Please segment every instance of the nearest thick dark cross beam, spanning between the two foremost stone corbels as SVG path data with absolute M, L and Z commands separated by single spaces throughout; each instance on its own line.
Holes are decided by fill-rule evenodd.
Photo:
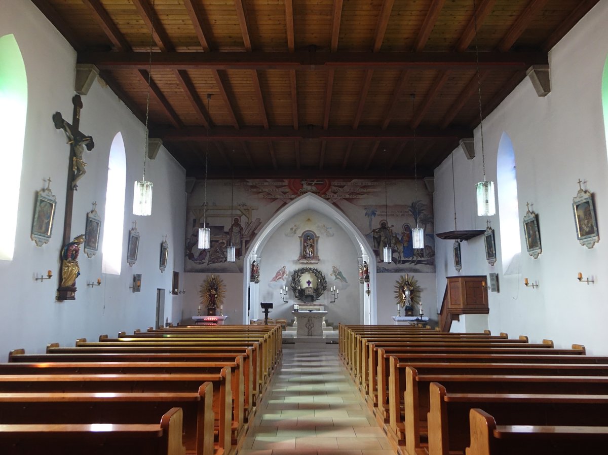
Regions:
M 100 69 L 148 68 L 148 52 L 79 52 L 78 63 Z M 479 66 L 493 71 L 547 64 L 546 52 L 480 52 Z M 163 52 L 155 69 L 477 69 L 474 52 Z

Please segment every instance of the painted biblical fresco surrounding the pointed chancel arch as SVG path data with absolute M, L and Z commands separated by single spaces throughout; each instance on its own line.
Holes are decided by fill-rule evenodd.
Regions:
M 242 273 L 243 258 L 256 235 L 279 210 L 306 193 L 314 193 L 340 210 L 367 239 L 376 255 L 378 273 L 435 273 L 435 240 L 432 197 L 424 185 L 411 180 L 381 179 L 260 179 L 211 181 L 207 185 L 206 215 L 204 187 L 196 184 L 188 196 L 188 232 L 185 245 L 187 272 Z M 386 204 L 385 204 L 386 201 Z M 211 229 L 211 248 L 198 249 L 198 228 L 203 217 Z M 424 228 L 425 248 L 412 248 L 412 228 Z M 332 237 L 331 226 L 317 223 L 317 234 Z M 302 226 L 285 226 L 286 237 L 302 235 Z M 228 245 L 236 247 L 237 260 L 226 262 Z M 390 245 L 390 263 L 382 260 L 382 248 Z M 338 269 L 339 271 L 339 269 Z M 339 279 L 338 279 L 339 281 Z

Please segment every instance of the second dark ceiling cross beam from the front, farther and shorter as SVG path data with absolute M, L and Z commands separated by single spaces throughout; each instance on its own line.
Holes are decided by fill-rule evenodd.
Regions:
M 301 141 L 308 139 L 324 139 L 326 141 L 334 140 L 352 140 L 352 139 L 412 139 L 414 131 L 411 128 L 387 128 L 382 130 L 378 127 L 361 127 L 352 130 L 350 127 L 334 127 L 323 130 L 319 127 L 306 127 L 294 130 L 291 127 L 271 127 L 268 130 L 264 128 L 247 127 L 240 130 L 233 128 L 206 128 L 187 127 L 181 130 L 173 128 L 154 128 L 151 130 L 151 137 L 159 137 L 163 141 L 179 142 L 179 141 L 205 141 L 207 134 L 213 140 L 230 140 L 238 139 L 241 141 L 289 141 L 299 139 Z M 463 137 L 472 137 L 470 128 L 446 128 L 438 130 L 438 128 L 418 128 L 416 130 L 416 138 L 423 139 L 461 139 Z

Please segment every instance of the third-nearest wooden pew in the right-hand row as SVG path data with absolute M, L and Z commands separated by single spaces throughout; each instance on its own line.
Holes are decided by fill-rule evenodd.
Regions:
M 404 420 L 390 401 L 390 433 L 408 453 L 421 450 L 421 416 L 430 408 L 430 383 L 437 382 L 454 393 L 478 394 L 604 394 L 608 387 L 605 376 L 564 375 L 450 375 L 419 374 L 406 368 Z M 390 398 L 389 398 L 390 400 Z M 395 406 L 396 407 L 396 406 Z M 405 440 L 404 440 L 405 439 Z

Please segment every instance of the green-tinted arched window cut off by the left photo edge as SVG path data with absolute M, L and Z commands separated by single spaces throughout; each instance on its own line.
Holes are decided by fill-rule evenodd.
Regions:
M 0 106 L 0 168 L 10 169 L 0 179 L 0 259 L 12 260 L 27 116 L 26 66 L 14 35 L 0 37 Z

